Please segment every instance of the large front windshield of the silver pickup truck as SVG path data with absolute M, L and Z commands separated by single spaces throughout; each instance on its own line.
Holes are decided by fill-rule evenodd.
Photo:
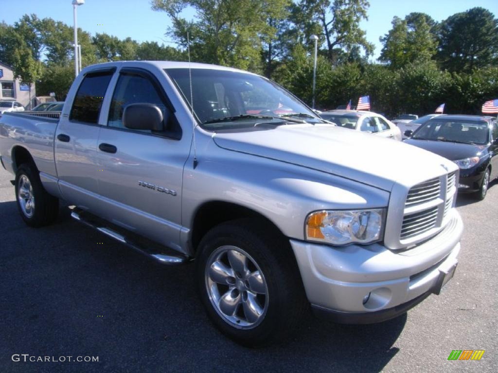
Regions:
M 165 71 L 190 104 L 189 69 Z M 197 68 L 190 74 L 194 113 L 207 130 L 254 127 L 258 122 L 322 122 L 297 98 L 260 76 Z

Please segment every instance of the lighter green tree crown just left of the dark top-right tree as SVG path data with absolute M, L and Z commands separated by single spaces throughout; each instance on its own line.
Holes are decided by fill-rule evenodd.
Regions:
M 435 21 L 424 13 L 410 13 L 404 19 L 394 17 L 392 28 L 380 41 L 384 44 L 380 61 L 399 69 L 413 62 L 425 63 L 436 54 Z

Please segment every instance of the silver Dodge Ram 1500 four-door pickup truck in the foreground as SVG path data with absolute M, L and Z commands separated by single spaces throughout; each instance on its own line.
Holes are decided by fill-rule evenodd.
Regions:
M 87 67 L 60 120 L 4 114 L 0 154 L 28 225 L 63 199 L 160 263 L 195 260 L 211 320 L 247 346 L 280 340 L 310 305 L 341 323 L 396 317 L 457 265 L 454 163 L 336 127 L 240 70 Z

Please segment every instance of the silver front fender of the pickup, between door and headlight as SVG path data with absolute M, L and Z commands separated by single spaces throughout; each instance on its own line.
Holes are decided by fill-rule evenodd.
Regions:
M 221 149 L 198 139 L 199 164 L 186 163 L 182 225 L 188 240 L 195 214 L 204 203 L 223 201 L 252 209 L 287 237 L 304 239 L 312 211 L 386 207 L 387 191 L 284 162 Z M 199 146 L 200 145 L 200 146 Z

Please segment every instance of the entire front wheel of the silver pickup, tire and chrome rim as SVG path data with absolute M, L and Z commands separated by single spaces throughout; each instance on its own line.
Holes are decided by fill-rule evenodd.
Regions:
M 248 347 L 282 341 L 307 299 L 286 240 L 253 220 L 223 223 L 199 245 L 197 287 L 213 323 Z

